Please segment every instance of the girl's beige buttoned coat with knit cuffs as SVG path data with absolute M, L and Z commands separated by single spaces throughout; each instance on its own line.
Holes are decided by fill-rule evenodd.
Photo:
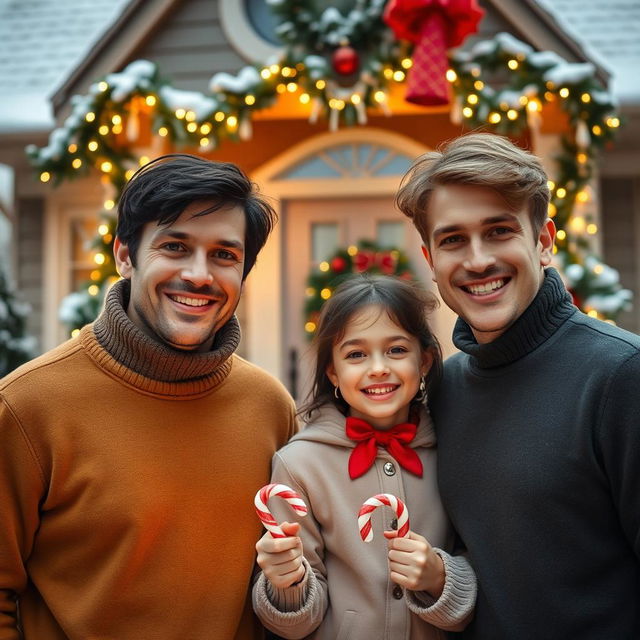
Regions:
M 463 556 L 450 556 L 454 533 L 436 486 L 435 434 L 426 413 L 411 443 L 424 466 L 422 478 L 403 470 L 382 448 L 373 467 L 351 480 L 347 464 L 355 443 L 344 433 L 344 416 L 325 406 L 317 420 L 273 459 L 272 482 L 299 492 L 309 513 L 299 518 L 307 575 L 298 586 L 274 589 L 260 574 L 253 589 L 254 608 L 263 624 L 284 638 L 325 640 L 427 640 L 463 628 L 473 614 L 475 574 Z M 390 581 L 387 542 L 394 513 L 373 513 L 373 541 L 362 541 L 357 524 L 362 503 L 391 493 L 407 505 L 412 531 L 423 535 L 442 556 L 444 593 L 435 601 Z M 282 500 L 269 506 L 276 519 L 295 520 Z

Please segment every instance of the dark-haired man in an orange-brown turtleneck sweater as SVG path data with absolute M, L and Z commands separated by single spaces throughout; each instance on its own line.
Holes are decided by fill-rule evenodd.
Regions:
M 0 382 L 2 640 L 261 637 L 253 497 L 296 420 L 234 311 L 274 223 L 232 164 L 125 187 L 104 311 Z

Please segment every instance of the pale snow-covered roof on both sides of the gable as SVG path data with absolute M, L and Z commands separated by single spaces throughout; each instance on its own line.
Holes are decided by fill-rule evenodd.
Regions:
M 50 98 L 130 2 L 0 0 L 0 132 L 50 130 Z M 640 103 L 640 0 L 535 2 L 587 57 L 612 72 L 614 95 Z

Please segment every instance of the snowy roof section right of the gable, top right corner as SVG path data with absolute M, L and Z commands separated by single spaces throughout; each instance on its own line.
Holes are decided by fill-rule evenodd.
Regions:
M 640 102 L 640 0 L 536 0 L 611 74 L 622 103 Z

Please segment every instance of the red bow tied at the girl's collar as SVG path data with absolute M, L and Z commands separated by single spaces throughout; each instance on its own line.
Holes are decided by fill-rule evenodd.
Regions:
M 374 429 L 368 422 L 349 416 L 346 422 L 347 437 L 358 444 L 349 456 L 349 476 L 359 478 L 373 465 L 378 447 L 384 447 L 410 473 L 422 478 L 422 462 L 408 445 L 418 427 L 411 422 L 397 424 L 388 431 Z

